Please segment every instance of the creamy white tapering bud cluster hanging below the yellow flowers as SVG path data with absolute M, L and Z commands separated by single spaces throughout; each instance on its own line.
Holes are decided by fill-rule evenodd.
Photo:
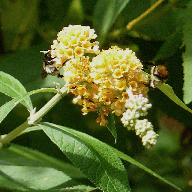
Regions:
M 142 139 L 145 147 L 150 148 L 156 144 L 158 135 L 153 130 L 153 125 L 147 119 L 139 119 L 147 115 L 151 108 L 148 99 L 142 94 L 134 95 L 131 88 L 127 89 L 128 99 L 125 103 L 126 111 L 123 113 L 121 122 L 129 130 L 134 130 Z

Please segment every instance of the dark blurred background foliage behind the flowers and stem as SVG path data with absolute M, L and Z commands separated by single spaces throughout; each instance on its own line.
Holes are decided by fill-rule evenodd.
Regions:
M 155 61 L 169 70 L 168 84 L 191 107 L 191 1 L 165 0 L 130 30 L 127 24 L 147 10 L 156 0 L 1 0 L 0 70 L 20 80 L 28 91 L 55 86 L 55 77 L 41 78 L 41 50 L 49 49 L 56 34 L 69 24 L 89 25 L 99 35 L 103 48 L 129 47 L 144 63 Z M 148 66 L 145 66 L 148 67 Z M 114 143 L 107 128 L 95 123 L 95 114 L 82 116 L 80 108 L 65 97 L 45 117 L 46 121 L 86 132 L 131 155 L 183 191 L 191 190 L 191 115 L 175 105 L 159 90 L 150 90 L 153 109 L 150 118 L 159 133 L 157 145 L 145 150 L 138 138 L 117 123 Z M 41 107 L 51 95 L 33 96 Z M 0 104 L 7 100 L 0 96 Z M 26 119 L 19 105 L 0 126 L 5 134 Z M 41 132 L 14 141 L 66 159 Z M 1 157 L 0 157 L 1 161 Z M 135 192 L 174 191 L 138 168 L 126 164 L 130 185 Z M 4 191 L 5 189 L 2 189 Z

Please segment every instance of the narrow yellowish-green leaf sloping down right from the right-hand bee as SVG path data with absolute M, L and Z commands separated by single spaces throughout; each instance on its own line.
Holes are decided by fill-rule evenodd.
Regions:
M 185 109 L 186 111 L 192 113 L 192 110 L 188 108 L 183 101 L 181 101 L 177 95 L 174 93 L 173 88 L 168 84 L 161 84 L 158 86 L 159 90 L 162 91 L 167 97 L 169 97 L 174 103 L 179 105 L 181 108 Z

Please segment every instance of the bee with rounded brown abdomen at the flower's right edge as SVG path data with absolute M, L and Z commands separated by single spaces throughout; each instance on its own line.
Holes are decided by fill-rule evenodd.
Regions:
M 150 87 L 155 88 L 158 84 L 164 83 L 168 79 L 168 70 L 165 65 L 151 67 Z

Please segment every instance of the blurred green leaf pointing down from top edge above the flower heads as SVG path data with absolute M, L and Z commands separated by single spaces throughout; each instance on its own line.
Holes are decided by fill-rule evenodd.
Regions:
M 98 0 L 94 10 L 94 28 L 100 35 L 100 43 L 105 39 L 116 18 L 129 0 Z

